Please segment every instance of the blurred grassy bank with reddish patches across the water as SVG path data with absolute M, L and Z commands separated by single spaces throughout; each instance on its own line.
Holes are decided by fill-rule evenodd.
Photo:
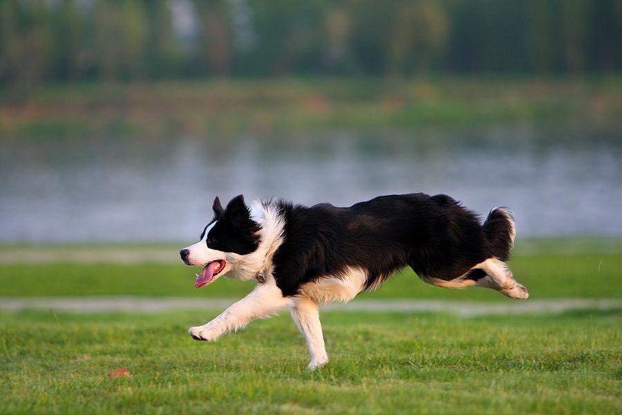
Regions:
M 214 80 L 2 91 L 0 136 L 618 123 L 619 77 Z

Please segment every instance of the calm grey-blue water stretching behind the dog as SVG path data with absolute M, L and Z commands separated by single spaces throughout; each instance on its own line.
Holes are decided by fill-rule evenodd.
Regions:
M 256 138 L 3 140 L 0 241 L 198 237 L 217 194 L 350 205 L 446 193 L 519 236 L 622 235 L 619 131 L 486 129 Z

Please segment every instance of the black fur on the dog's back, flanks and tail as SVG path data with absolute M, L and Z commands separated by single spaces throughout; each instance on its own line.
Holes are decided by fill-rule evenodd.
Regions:
M 478 216 L 444 194 L 380 196 L 350 208 L 322 203 L 310 208 L 279 203 L 284 240 L 273 257 L 283 295 L 348 266 L 367 270 L 365 288 L 411 266 L 417 275 L 449 281 L 491 257 L 507 259 L 511 223 L 493 210 Z M 469 274 L 471 279 L 483 277 Z

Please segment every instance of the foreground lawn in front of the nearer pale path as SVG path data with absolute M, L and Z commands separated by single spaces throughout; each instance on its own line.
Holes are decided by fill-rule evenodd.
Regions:
M 613 414 L 622 313 L 325 313 L 328 367 L 305 370 L 287 315 L 216 343 L 213 315 L 0 313 L 3 413 Z M 109 379 L 126 367 L 129 378 Z

